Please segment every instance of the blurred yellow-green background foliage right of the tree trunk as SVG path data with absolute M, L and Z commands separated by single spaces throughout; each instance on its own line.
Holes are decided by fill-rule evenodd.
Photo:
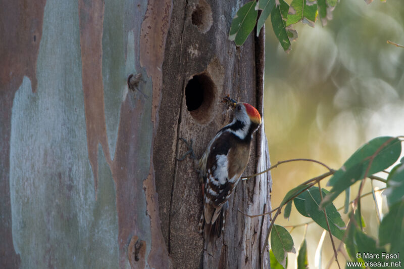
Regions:
M 291 1 L 286 1 L 290 4 Z M 361 145 L 378 136 L 404 135 L 404 49 L 387 40 L 404 44 L 404 2 L 341 0 L 333 19 L 315 28 L 298 23 L 298 39 L 286 54 L 266 22 L 265 128 L 271 163 L 292 158 L 320 160 L 334 169 Z M 282 164 L 271 171 L 272 207 L 279 205 L 288 190 L 326 170 L 308 162 Z M 385 175 L 381 174 L 385 177 Z M 325 180 L 327 181 L 328 178 Z M 325 182 L 322 184 L 325 187 Z M 385 187 L 377 182 L 374 187 Z M 371 191 L 370 181 L 364 192 Z M 358 193 L 358 184 L 350 198 Z M 343 206 L 343 194 L 335 200 Z M 387 211 L 385 197 L 383 210 Z M 342 218 L 348 217 L 339 211 Z M 365 232 L 377 238 L 379 220 L 372 195 L 362 199 Z M 297 249 L 309 222 L 293 207 L 285 226 Z M 323 229 L 308 226 L 309 267 L 314 268 L 316 247 Z M 339 241 L 336 240 L 336 245 Z M 327 235 L 323 245 L 323 268 L 332 259 Z M 295 254 L 288 254 L 288 268 L 294 268 Z M 341 267 L 345 258 L 339 254 Z M 292 262 L 293 261 L 293 262 Z M 333 262 L 331 268 L 337 267 Z

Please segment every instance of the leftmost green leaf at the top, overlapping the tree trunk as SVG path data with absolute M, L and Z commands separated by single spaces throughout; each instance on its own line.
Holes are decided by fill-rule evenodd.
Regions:
M 229 40 L 234 40 L 237 46 L 241 46 L 249 33 L 256 25 L 258 11 L 255 9 L 256 1 L 251 1 L 242 6 L 233 18 L 230 26 Z

